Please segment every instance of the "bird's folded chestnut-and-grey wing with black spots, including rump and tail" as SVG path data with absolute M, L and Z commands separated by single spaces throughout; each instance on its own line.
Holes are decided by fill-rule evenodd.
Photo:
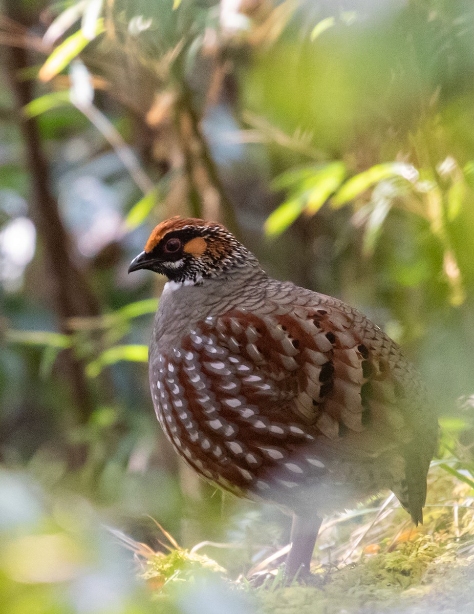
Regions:
M 293 424 L 323 454 L 380 459 L 385 486 L 421 521 L 437 426 L 418 372 L 394 341 L 329 297 L 260 315 L 237 309 L 212 325 L 238 361 L 242 397 L 268 424 Z

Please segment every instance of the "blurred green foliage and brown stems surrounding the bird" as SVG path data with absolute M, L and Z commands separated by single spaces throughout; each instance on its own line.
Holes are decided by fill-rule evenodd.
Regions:
M 155 419 L 164 280 L 126 270 L 175 214 L 402 344 L 472 480 L 471 1 L 3 0 L 0 63 L 2 612 L 159 610 L 107 526 L 238 543 L 208 551 L 233 577 L 285 541 Z M 200 590 L 176 611 L 214 612 Z

